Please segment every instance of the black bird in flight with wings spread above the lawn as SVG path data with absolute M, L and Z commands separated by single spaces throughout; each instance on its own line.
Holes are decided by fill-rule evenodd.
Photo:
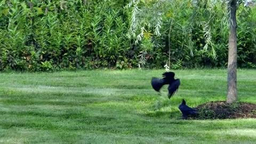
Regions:
M 163 78 L 152 77 L 151 85 L 157 92 L 162 88 L 163 85 L 169 84 L 168 86 L 168 98 L 170 99 L 175 92 L 178 91 L 180 86 L 180 79 L 174 79 L 175 74 L 173 72 L 163 73 Z

